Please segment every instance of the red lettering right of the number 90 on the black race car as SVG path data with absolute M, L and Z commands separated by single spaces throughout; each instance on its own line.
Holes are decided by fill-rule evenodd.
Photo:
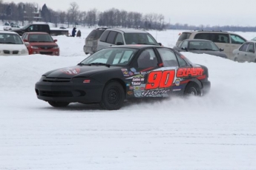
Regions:
M 203 69 L 201 67 L 195 67 L 195 68 L 181 68 L 177 70 L 176 77 L 182 78 L 182 77 L 188 77 L 188 76 L 201 76 L 203 75 Z

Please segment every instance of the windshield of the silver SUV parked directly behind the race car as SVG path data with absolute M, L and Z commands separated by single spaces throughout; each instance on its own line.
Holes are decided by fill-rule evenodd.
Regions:
M 150 44 L 159 45 L 149 33 L 125 33 L 126 44 Z

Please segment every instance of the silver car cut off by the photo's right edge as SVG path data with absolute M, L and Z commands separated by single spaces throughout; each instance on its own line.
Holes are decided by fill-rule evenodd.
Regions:
M 243 43 L 239 48 L 233 51 L 232 60 L 238 62 L 255 62 L 256 63 L 256 40 Z

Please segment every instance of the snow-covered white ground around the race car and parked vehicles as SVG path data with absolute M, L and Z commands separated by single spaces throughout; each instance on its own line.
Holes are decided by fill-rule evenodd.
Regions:
M 117 111 L 38 100 L 43 73 L 88 57 L 91 29 L 78 27 L 82 38 L 53 37 L 60 56 L 0 56 L 0 170 L 256 169 L 255 63 L 183 52 L 209 68 L 211 92 L 202 98 L 125 103 Z M 173 47 L 182 31 L 149 32 Z

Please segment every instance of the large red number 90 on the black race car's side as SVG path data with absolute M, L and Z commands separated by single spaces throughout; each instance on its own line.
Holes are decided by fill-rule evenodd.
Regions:
M 150 72 L 145 89 L 168 88 L 174 81 L 175 70 Z

